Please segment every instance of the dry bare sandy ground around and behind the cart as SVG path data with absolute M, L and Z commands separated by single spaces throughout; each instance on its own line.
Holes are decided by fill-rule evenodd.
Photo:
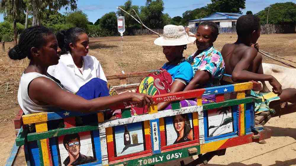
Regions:
M 156 46 L 153 41 L 157 36 L 124 36 L 123 43 L 120 37 L 103 37 L 90 39 L 89 54 L 95 56 L 101 63 L 106 75 L 120 74 L 134 71 L 147 71 L 160 68 L 165 62 L 162 47 Z M 236 34 L 220 34 L 214 46 L 221 50 L 226 43 L 233 43 Z M 260 49 L 289 60 L 296 61 L 296 34 L 261 35 Z M 2 43 L 1 43 L 2 44 Z M 6 49 L 13 47 L 6 43 Z M 122 51 L 121 51 L 122 50 Z M 196 50 L 194 44 L 188 44 L 184 56 Z M 17 114 L 17 89 L 21 73 L 28 65 L 28 59 L 21 61 L 10 60 L 7 53 L 0 52 L 0 165 L 4 165 L 15 139 L 15 130 L 12 119 Z M 265 63 L 281 63 L 264 57 Z M 118 80 L 112 80 L 113 85 Z M 139 79 L 128 80 L 128 83 L 139 82 Z M 296 165 L 296 113 L 272 118 L 267 124 L 273 135 L 267 143 L 250 143 L 229 148 L 226 155 L 214 157 L 209 166 L 282 166 Z M 21 154 L 22 155 L 22 154 Z M 192 161 L 185 159 L 185 163 Z M 24 160 L 17 161 L 17 165 L 24 165 Z M 179 162 L 169 162 L 162 165 L 180 165 Z

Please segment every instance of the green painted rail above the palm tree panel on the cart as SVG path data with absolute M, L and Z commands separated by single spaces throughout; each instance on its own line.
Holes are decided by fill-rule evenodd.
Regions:
M 256 102 L 257 99 L 258 98 L 254 98 L 254 97 L 246 97 L 246 98 L 242 98 L 242 99 L 232 99 L 232 100 L 226 100 L 226 101 L 223 101 L 220 103 L 203 104 L 202 108 L 203 108 L 203 110 L 209 110 L 209 109 L 221 108 L 221 107 L 227 107 L 227 106 L 236 106 L 239 104 Z

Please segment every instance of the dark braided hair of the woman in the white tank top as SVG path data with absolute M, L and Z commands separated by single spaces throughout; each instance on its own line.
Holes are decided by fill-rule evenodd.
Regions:
M 44 26 L 33 26 L 25 29 L 20 34 L 19 43 L 9 50 L 8 56 L 13 60 L 21 60 L 26 57 L 31 59 L 31 48 L 41 48 L 46 44 L 44 36 L 52 34 L 52 31 Z

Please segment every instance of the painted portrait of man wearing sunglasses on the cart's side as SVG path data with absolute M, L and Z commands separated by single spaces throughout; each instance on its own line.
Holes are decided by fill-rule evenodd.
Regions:
M 69 156 L 63 162 L 65 166 L 81 165 L 95 160 L 94 157 L 80 153 L 80 137 L 77 133 L 65 135 L 63 144 L 69 153 Z

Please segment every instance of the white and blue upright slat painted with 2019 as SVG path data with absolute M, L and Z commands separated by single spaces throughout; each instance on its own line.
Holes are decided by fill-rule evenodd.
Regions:
M 152 154 L 160 154 L 160 129 L 159 119 L 150 120 L 151 127 L 151 142 L 152 142 Z

